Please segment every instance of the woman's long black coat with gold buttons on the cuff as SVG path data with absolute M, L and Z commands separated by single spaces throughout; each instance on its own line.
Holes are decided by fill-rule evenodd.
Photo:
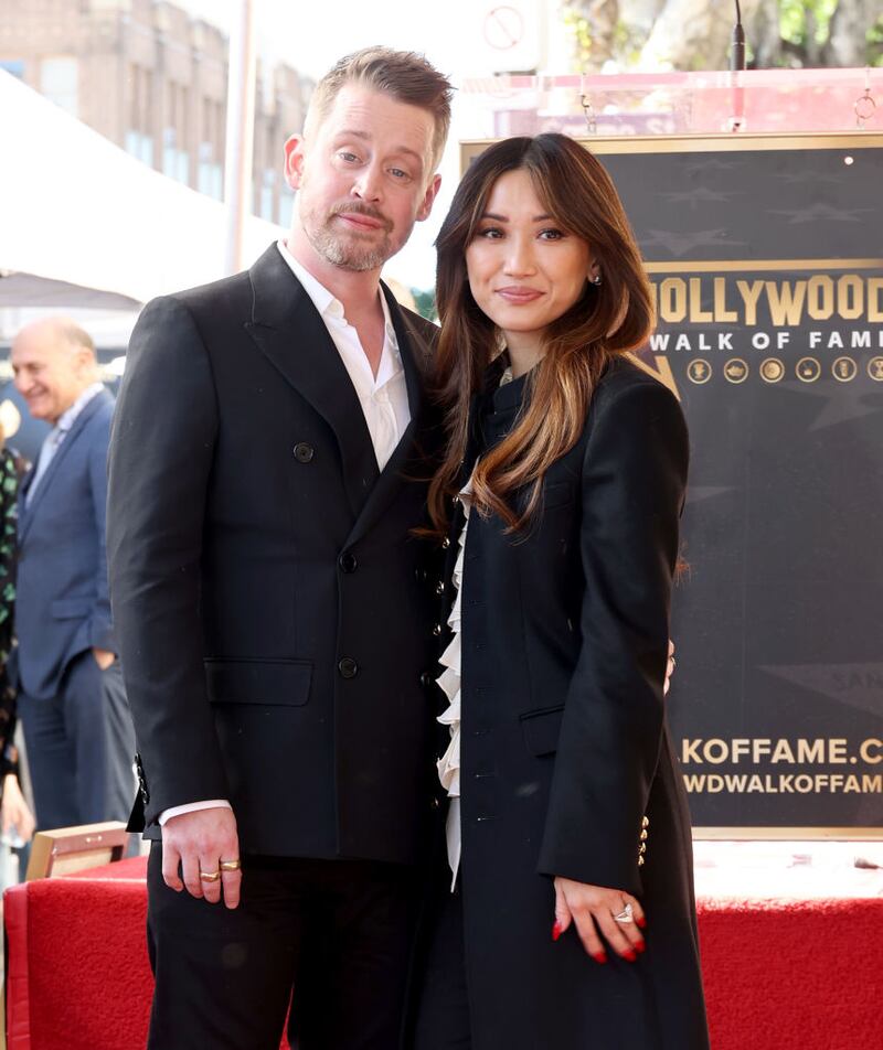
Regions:
M 479 401 L 479 447 L 511 429 L 523 388 Z M 677 399 L 620 358 L 547 472 L 526 536 L 471 515 L 461 892 L 472 1050 L 708 1048 L 690 817 L 662 694 L 688 456 Z M 454 535 L 461 512 L 453 524 Z M 634 893 L 646 954 L 598 965 L 573 928 L 553 943 L 556 875 Z

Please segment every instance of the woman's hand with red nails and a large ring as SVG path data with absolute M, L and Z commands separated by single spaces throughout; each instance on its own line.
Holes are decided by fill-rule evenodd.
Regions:
M 629 904 L 634 921 L 617 922 L 614 915 L 625 913 Z M 645 950 L 643 936 L 640 932 L 647 925 L 643 910 L 637 898 L 623 890 L 556 878 L 555 925 L 552 928 L 552 936 L 555 941 L 571 925 L 571 922 L 576 926 L 583 947 L 596 963 L 607 962 L 607 953 L 598 932 L 604 935 L 615 952 L 630 963 L 634 963 L 638 954 Z

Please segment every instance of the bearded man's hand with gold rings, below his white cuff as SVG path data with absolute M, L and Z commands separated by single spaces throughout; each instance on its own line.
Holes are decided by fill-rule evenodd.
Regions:
M 180 893 L 187 887 L 191 896 L 203 897 L 210 904 L 216 904 L 223 891 L 226 907 L 235 908 L 242 871 L 225 870 L 221 865 L 238 859 L 236 818 L 226 806 L 182 813 L 162 825 L 162 878 L 169 889 Z M 205 881 L 200 877 L 216 871 L 221 872 L 220 879 Z

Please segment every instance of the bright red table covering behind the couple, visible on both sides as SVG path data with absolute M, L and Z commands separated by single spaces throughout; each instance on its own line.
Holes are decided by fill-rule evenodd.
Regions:
M 145 1046 L 143 876 L 136 858 L 7 891 L 9 1050 Z M 713 1050 L 883 1047 L 882 899 L 704 899 L 699 922 Z

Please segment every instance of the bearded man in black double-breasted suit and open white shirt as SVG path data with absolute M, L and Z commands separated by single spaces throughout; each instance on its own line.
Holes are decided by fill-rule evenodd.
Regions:
M 156 300 L 110 450 L 111 598 L 153 839 L 149 1046 L 393 1050 L 430 815 L 422 372 L 380 283 L 450 85 L 371 49 L 286 146 L 287 242 Z

